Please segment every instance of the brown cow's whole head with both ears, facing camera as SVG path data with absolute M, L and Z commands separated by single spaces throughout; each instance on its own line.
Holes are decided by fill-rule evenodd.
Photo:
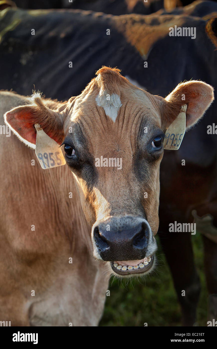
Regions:
M 152 270 L 157 249 L 164 132 L 181 105 L 188 129 L 212 100 L 203 82 L 180 84 L 164 99 L 103 67 L 81 95 L 56 102 L 55 110 L 36 96 L 5 120 L 26 144 L 36 143 L 36 123 L 62 144 L 92 227 L 94 257 L 115 275 L 142 275 Z

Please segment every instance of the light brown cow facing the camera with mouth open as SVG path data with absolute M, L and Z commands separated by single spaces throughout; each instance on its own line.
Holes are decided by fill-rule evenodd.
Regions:
M 214 99 L 201 81 L 163 98 L 102 67 L 66 102 L 0 92 L 1 114 L 18 137 L 0 138 L 1 319 L 96 326 L 108 275 L 153 270 L 164 132 L 182 109 L 182 94 L 188 130 Z M 67 165 L 58 164 L 52 142 Z M 30 148 L 42 153 L 42 168 Z

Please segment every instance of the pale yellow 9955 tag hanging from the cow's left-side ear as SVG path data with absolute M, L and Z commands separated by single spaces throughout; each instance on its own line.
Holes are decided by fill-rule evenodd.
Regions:
M 43 170 L 65 165 L 65 158 L 58 143 L 50 138 L 40 127 L 36 128 L 36 156 Z

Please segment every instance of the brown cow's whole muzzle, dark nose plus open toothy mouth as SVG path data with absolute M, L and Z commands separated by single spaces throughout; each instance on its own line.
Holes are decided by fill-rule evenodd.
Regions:
M 111 217 L 92 228 L 94 257 L 109 261 L 115 274 L 144 274 L 157 250 L 149 223 L 140 217 Z

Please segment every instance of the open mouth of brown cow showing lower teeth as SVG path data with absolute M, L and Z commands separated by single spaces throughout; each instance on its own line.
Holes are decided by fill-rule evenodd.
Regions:
M 110 262 L 112 270 L 119 275 L 145 274 L 154 263 L 154 255 L 140 260 Z

